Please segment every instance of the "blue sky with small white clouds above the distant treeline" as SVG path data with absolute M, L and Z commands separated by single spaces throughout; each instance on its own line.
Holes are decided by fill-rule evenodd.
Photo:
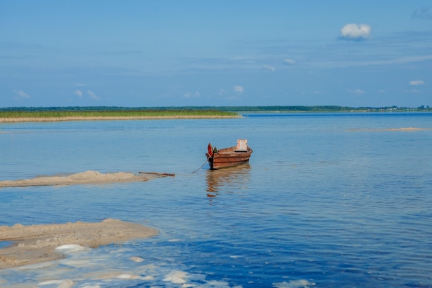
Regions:
M 0 0 L 0 107 L 432 106 L 432 2 Z

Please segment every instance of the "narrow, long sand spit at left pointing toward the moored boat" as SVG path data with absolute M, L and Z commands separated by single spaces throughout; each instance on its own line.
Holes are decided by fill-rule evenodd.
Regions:
M 166 177 L 167 173 L 146 173 L 139 174 L 118 172 L 118 173 L 99 173 L 97 171 L 86 171 L 68 176 L 47 176 L 36 177 L 26 180 L 6 180 L 0 181 L 1 187 L 25 187 L 25 186 L 55 186 L 55 185 L 74 185 L 74 184 L 108 184 L 118 182 L 140 182 L 153 180 L 159 177 Z

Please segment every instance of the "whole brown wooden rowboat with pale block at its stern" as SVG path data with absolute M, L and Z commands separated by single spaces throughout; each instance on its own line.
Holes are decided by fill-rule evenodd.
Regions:
M 213 148 L 208 143 L 207 150 L 206 156 L 211 170 L 248 163 L 253 152 L 246 139 L 237 140 L 237 146 L 223 149 Z

